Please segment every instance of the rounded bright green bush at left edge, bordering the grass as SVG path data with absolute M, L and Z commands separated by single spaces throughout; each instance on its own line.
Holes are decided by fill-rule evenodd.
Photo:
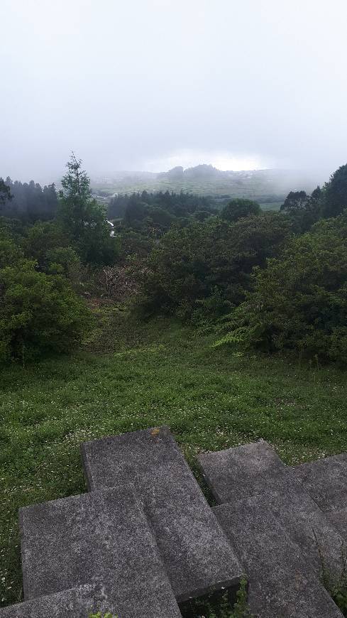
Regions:
M 90 326 L 91 314 L 62 276 L 21 260 L 0 270 L 0 359 L 70 352 Z

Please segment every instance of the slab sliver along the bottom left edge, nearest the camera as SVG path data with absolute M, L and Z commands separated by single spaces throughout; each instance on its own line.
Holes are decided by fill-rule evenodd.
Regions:
M 151 597 L 143 589 L 131 587 L 127 595 L 112 581 L 94 582 L 4 607 L 0 618 L 88 618 L 96 612 L 110 612 L 118 618 L 181 618 L 172 595 L 163 595 L 161 587 L 153 590 Z

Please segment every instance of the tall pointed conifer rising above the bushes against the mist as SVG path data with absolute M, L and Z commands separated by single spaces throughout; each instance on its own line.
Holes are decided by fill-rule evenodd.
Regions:
M 92 199 L 90 180 L 82 161 L 72 153 L 62 178 L 58 219 L 67 237 L 77 247 L 84 264 L 114 264 L 118 256 L 116 238 L 111 237 L 106 213 Z

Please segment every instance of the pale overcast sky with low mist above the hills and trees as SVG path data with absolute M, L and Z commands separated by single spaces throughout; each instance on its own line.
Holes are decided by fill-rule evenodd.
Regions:
M 0 175 L 347 162 L 346 0 L 0 0 Z

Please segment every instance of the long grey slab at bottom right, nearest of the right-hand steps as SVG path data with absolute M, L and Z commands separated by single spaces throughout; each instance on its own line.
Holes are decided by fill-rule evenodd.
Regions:
M 213 510 L 248 573 L 251 612 L 259 618 L 341 618 L 299 546 L 264 509 L 260 496 Z

